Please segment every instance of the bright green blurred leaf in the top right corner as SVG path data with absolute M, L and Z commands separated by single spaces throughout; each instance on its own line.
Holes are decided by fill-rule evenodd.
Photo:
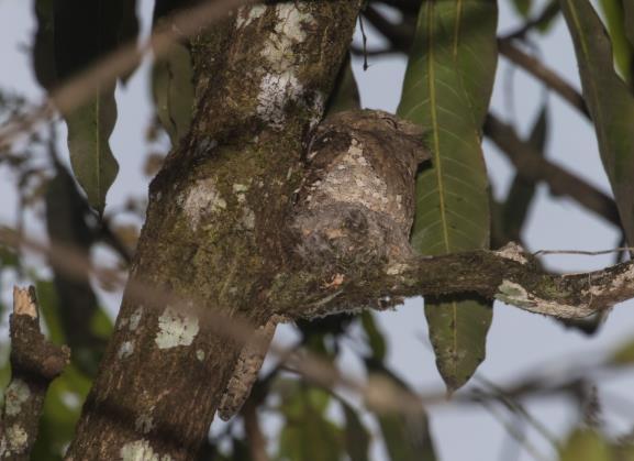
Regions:
M 625 35 L 627 22 L 625 22 L 624 4 L 627 2 L 631 0 L 601 0 L 600 4 L 610 32 L 616 69 L 625 81 L 631 83 L 634 48 Z

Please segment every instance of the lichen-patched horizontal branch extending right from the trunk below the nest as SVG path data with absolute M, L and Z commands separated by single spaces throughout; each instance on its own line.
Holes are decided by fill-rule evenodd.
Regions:
M 303 314 L 312 317 L 359 306 L 381 309 L 412 296 L 476 294 L 534 314 L 579 319 L 634 297 L 633 262 L 602 271 L 554 275 L 542 271 L 534 256 L 515 243 L 500 251 L 413 256 L 390 263 L 382 272 L 348 277 L 347 282 L 345 275 L 336 277 L 343 279 L 336 287 L 323 285 L 318 292 L 323 301 L 311 296 L 312 305 Z

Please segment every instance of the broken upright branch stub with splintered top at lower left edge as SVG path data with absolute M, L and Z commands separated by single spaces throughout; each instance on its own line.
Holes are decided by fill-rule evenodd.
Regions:
M 48 385 L 70 359 L 70 350 L 52 344 L 40 331 L 35 289 L 13 288 L 11 382 L 0 422 L 0 458 L 27 461 L 37 438 Z

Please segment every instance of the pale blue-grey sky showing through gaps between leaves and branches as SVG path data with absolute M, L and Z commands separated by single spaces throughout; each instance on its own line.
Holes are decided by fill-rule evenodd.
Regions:
M 140 0 L 143 29 L 147 33 L 152 17 L 151 0 Z M 508 31 L 521 20 L 511 11 L 508 0 L 500 0 L 500 31 Z M 536 2 L 542 6 L 544 1 Z M 536 11 L 540 11 L 537 9 Z M 366 25 L 369 34 L 369 47 L 379 43 L 371 26 Z M 0 0 L 0 56 L 4 63 L 0 73 L 0 86 L 26 95 L 34 101 L 42 97 L 42 90 L 34 81 L 30 64 L 30 54 L 25 51 L 32 42 L 34 20 L 31 15 L 31 2 L 24 0 Z M 356 41 L 359 36 L 357 31 Z M 577 65 L 571 43 L 561 19 L 554 30 L 540 40 L 538 45 L 544 62 L 555 68 L 567 80 L 579 88 Z M 355 59 L 355 74 L 362 94 L 364 107 L 393 111 L 401 92 L 405 58 L 369 58 L 370 67 L 363 72 L 360 59 Z M 111 139 L 112 151 L 116 155 L 121 171 L 114 187 L 108 197 L 109 207 L 121 205 L 131 193 L 146 194 L 146 179 L 142 174 L 147 147 L 144 145 L 144 130 L 152 117 L 149 90 L 146 86 L 147 63 L 133 76 L 125 89 L 118 90 L 119 119 Z M 501 58 L 498 79 L 493 92 L 493 111 L 508 118 L 508 103 L 504 92 L 508 81 L 508 63 Z M 524 74 L 513 74 L 514 112 L 518 125 L 526 129 L 542 100 L 541 86 Z M 550 136 L 547 144 L 548 157 L 569 171 L 578 174 L 600 189 L 609 193 L 609 184 L 599 160 L 597 141 L 589 123 L 557 96 L 550 96 Z M 60 139 L 65 139 L 60 130 Z M 64 143 L 62 143 L 64 144 Z M 497 197 L 505 196 L 512 179 L 512 168 L 505 157 L 489 142 L 485 142 L 485 153 L 492 186 Z M 12 224 L 15 217 L 14 178 L 5 167 L 0 167 L 0 224 Z M 33 220 L 31 220 L 33 221 Z M 41 233 L 41 229 L 32 228 Z M 568 199 L 552 199 L 545 186 L 540 186 L 534 201 L 524 240 L 530 250 L 574 249 L 604 250 L 618 245 L 619 234 L 611 224 L 582 210 Z M 105 257 L 105 256 L 103 256 Z M 547 256 L 546 264 L 557 271 L 588 271 L 611 264 L 608 256 Z M 7 282 L 7 281 L 5 281 Z M 8 287 L 2 285 L 8 298 Z M 104 295 L 112 312 L 119 306 L 119 296 Z M 523 376 L 543 373 L 552 376 L 565 376 L 570 366 L 592 363 L 604 353 L 627 339 L 634 339 L 634 301 L 618 306 L 600 333 L 587 338 L 566 330 L 554 321 L 523 312 L 514 307 L 496 304 L 494 319 L 488 337 L 488 352 L 478 374 L 492 380 L 498 385 L 510 385 Z M 433 353 L 426 340 L 426 323 L 421 299 L 411 299 L 393 312 L 375 315 L 381 330 L 389 340 L 389 361 L 393 369 L 415 389 L 440 392 L 443 383 L 435 370 Z M 353 332 L 354 336 L 360 332 Z M 276 340 L 292 343 L 296 334 L 291 327 L 279 329 Z M 341 363 L 346 371 L 358 373 L 358 361 L 349 348 L 345 348 Z M 634 374 L 620 378 L 610 378 L 599 384 L 599 396 L 609 393 L 630 398 L 634 388 Z M 631 408 L 615 407 L 604 402 L 604 417 L 615 433 L 630 431 L 634 424 L 634 399 Z M 564 437 L 574 427 L 579 415 L 564 399 L 535 398 L 525 402 L 526 408 L 552 433 Z M 510 420 L 501 406 L 498 411 Z M 621 413 L 619 413 L 621 410 Z M 629 410 L 629 411 L 627 411 Z M 437 405 L 429 409 L 432 436 L 440 459 L 460 460 L 502 460 L 501 453 L 508 448 L 510 436 L 505 428 L 480 406 Z M 267 432 L 278 427 L 279 420 L 266 418 Z M 214 430 L 220 428 L 214 422 Z M 529 441 L 545 459 L 554 459 L 553 446 L 534 429 L 527 428 Z M 382 448 L 372 450 L 372 459 L 383 459 Z M 526 450 L 520 449 L 519 460 L 535 459 Z

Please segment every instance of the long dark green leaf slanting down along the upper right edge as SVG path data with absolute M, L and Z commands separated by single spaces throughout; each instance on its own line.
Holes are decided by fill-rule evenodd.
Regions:
M 625 238 L 634 245 L 634 95 L 614 73 L 610 40 L 588 0 L 561 0 L 572 35 L 583 98 Z

